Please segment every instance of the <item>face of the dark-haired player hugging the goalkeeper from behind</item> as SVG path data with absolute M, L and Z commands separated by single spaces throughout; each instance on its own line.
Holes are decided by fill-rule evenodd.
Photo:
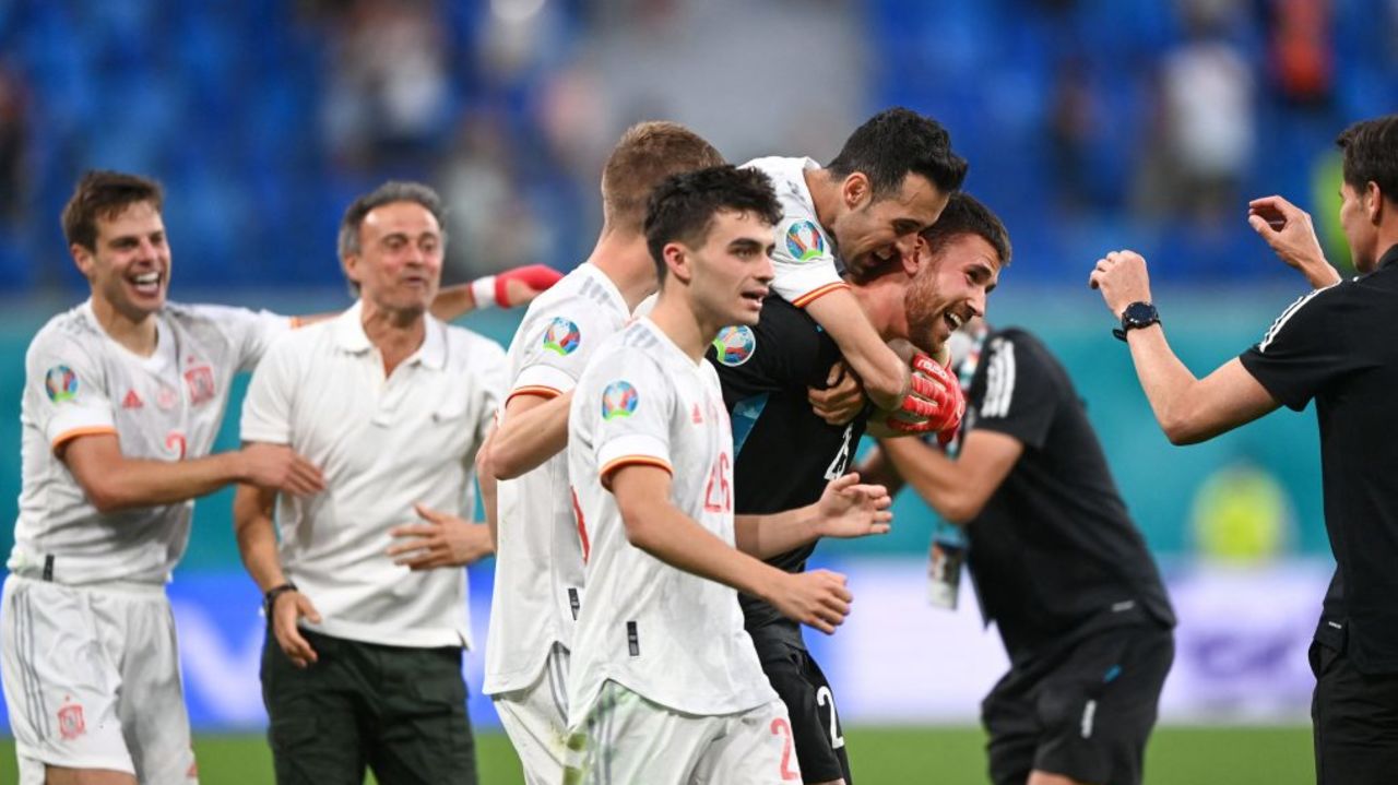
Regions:
M 830 232 L 844 264 L 854 271 L 911 257 L 918 232 L 937 222 L 948 200 L 931 180 L 913 173 L 898 193 L 874 198 L 868 179 L 856 172 L 844 179 L 842 197 L 847 210 L 835 218 Z

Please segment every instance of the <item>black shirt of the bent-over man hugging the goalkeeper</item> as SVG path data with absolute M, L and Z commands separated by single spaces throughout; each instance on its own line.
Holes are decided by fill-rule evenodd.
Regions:
M 1018 328 L 987 335 L 965 429 L 962 437 L 994 430 L 1025 447 L 966 528 L 981 610 L 1012 661 L 1142 612 L 1174 624 L 1078 391 L 1037 338 Z

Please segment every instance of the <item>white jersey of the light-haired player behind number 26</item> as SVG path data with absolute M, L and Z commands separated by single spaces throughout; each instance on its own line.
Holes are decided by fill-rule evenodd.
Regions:
M 510 344 L 509 397 L 570 391 L 587 359 L 628 318 L 626 300 L 611 278 L 591 264 L 577 265 L 530 303 Z M 555 641 L 572 645 L 583 602 L 583 550 L 568 454 L 500 480 L 498 518 L 487 694 L 528 687 Z

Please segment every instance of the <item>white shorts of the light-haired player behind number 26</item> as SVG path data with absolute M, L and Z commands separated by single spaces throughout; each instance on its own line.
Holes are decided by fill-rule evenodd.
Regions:
M 568 750 L 568 650 L 555 643 L 544 669 L 523 690 L 493 696 L 527 785 L 558 785 Z

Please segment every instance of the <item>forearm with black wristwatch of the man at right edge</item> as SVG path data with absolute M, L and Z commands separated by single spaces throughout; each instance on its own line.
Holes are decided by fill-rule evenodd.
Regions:
M 1089 285 L 1102 291 L 1117 318 L 1128 305 L 1151 302 L 1145 260 L 1132 251 L 1114 251 L 1097 260 Z M 1205 379 L 1195 379 L 1170 349 L 1159 324 L 1131 330 L 1127 344 L 1151 411 L 1173 444 L 1206 441 L 1281 405 L 1237 358 Z

